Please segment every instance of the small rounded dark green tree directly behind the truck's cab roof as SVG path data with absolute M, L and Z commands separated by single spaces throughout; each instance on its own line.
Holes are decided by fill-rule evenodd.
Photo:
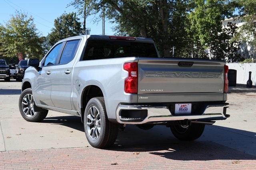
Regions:
M 52 32 L 49 33 L 47 37 L 48 40 L 46 40 L 49 41 L 50 46 L 52 46 L 61 39 L 82 34 L 81 22 L 76 16 L 76 13 L 64 13 L 54 20 L 54 28 L 52 28 Z

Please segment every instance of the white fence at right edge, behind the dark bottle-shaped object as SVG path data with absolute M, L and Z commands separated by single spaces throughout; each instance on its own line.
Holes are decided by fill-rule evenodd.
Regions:
M 256 85 L 256 63 L 227 63 L 229 69 L 236 70 L 236 83 L 246 84 L 249 71 L 252 72 L 252 85 Z

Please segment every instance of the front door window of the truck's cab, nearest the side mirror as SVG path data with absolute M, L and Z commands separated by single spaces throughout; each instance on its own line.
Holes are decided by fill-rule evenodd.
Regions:
M 46 56 L 43 66 L 49 66 L 57 64 L 60 50 L 62 49 L 62 43 L 56 45 L 50 53 Z

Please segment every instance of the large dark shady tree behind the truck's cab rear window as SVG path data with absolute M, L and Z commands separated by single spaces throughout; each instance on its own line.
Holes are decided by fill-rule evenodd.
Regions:
M 78 11 L 84 8 L 84 0 L 73 0 L 71 4 Z M 182 47 L 179 43 L 185 41 L 182 30 L 187 4 L 188 0 L 86 0 L 86 15 L 105 15 L 117 24 L 117 35 L 150 37 L 160 54 L 170 57 L 172 47 Z

